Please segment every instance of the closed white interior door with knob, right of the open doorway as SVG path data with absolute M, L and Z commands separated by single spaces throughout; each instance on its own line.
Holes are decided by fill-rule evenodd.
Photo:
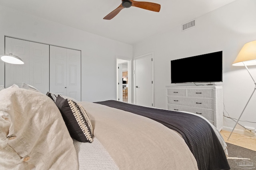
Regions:
M 135 95 L 136 104 L 154 106 L 153 100 L 153 54 L 135 59 Z

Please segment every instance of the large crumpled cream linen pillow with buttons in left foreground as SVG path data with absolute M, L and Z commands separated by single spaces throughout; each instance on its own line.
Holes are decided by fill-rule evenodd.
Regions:
M 77 170 L 78 158 L 62 115 L 46 95 L 0 91 L 0 169 Z

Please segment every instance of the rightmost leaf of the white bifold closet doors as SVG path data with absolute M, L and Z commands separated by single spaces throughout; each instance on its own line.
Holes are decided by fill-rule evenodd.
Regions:
M 81 51 L 67 49 L 67 96 L 81 101 Z

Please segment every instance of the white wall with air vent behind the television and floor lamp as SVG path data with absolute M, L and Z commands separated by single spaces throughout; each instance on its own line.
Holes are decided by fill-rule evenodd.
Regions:
M 216 84 L 223 86 L 226 111 L 230 117 L 238 119 L 252 94 L 254 83 L 244 67 L 232 66 L 232 63 L 245 43 L 256 40 L 255 9 L 255 0 L 236 0 L 196 18 L 196 27 L 192 29 L 181 31 L 181 25 L 178 25 L 166 33 L 136 43 L 133 46 L 134 57 L 154 52 L 155 107 L 166 109 L 165 86 L 184 85 L 171 84 L 171 60 L 223 51 L 223 82 Z M 256 66 L 249 66 L 249 69 L 256 79 Z M 256 93 L 241 120 L 256 122 L 255 103 Z M 228 114 L 225 112 L 225 115 Z M 240 122 L 240 124 L 256 128 L 256 123 Z M 234 121 L 224 119 L 225 127 L 230 127 L 232 130 L 234 125 Z

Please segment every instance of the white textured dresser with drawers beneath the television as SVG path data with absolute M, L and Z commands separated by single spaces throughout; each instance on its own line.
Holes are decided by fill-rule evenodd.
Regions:
M 166 86 L 167 109 L 202 115 L 223 127 L 222 86 Z

